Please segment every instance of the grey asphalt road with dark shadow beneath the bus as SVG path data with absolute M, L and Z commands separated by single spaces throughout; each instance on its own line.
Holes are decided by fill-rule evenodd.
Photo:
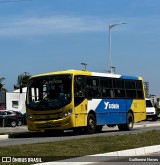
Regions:
M 119 131 L 117 127 L 109 128 L 105 126 L 101 133 L 97 133 L 93 135 L 88 135 L 88 134 L 75 135 L 73 134 L 72 131 L 66 131 L 63 134 L 47 135 L 44 132 L 29 132 L 26 126 L 20 126 L 15 128 L 1 127 L 0 132 L 10 132 L 11 134 L 9 138 L 0 140 L 0 146 L 63 141 L 63 140 L 80 139 L 80 138 L 97 137 L 97 136 L 131 134 L 131 133 L 144 132 L 149 130 L 160 130 L 160 121 L 159 120 L 156 122 L 143 121 L 140 123 L 136 123 L 132 131 Z M 18 134 L 17 133 L 15 134 L 15 132 L 18 132 Z

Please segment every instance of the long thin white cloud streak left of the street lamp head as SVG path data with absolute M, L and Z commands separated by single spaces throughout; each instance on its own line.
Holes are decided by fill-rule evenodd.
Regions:
M 1 19 L 0 19 L 1 20 Z M 0 35 L 46 35 L 54 33 L 103 31 L 106 24 L 94 17 L 49 16 L 6 18 L 1 20 Z

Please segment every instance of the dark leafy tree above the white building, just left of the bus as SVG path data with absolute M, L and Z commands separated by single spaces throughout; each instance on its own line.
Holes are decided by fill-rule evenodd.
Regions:
M 26 87 L 30 77 L 31 77 L 31 75 L 27 72 L 24 72 L 24 73 L 18 75 L 17 84 L 14 85 L 14 90 L 20 89 L 20 87 L 22 87 L 22 88 Z

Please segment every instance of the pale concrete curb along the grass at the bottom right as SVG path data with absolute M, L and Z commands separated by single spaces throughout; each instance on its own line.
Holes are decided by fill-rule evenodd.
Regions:
M 152 153 L 160 152 L 160 145 L 141 147 L 129 150 L 115 151 L 104 154 L 83 156 L 78 158 L 66 159 L 57 162 L 45 162 L 36 165 L 87 165 L 96 162 L 109 162 L 115 160 L 115 157 L 134 157 L 146 156 Z

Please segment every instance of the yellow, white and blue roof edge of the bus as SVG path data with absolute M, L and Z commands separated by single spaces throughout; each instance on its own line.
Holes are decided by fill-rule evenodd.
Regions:
M 38 75 L 32 76 L 32 78 L 33 77 L 56 75 L 56 74 L 73 74 L 73 75 L 87 75 L 87 76 L 97 76 L 97 77 L 99 76 L 99 77 L 142 80 L 142 77 L 140 77 L 140 76 L 127 76 L 127 75 L 120 75 L 120 74 L 113 74 L 113 73 L 90 72 L 87 70 L 74 70 L 74 69 L 38 74 Z

